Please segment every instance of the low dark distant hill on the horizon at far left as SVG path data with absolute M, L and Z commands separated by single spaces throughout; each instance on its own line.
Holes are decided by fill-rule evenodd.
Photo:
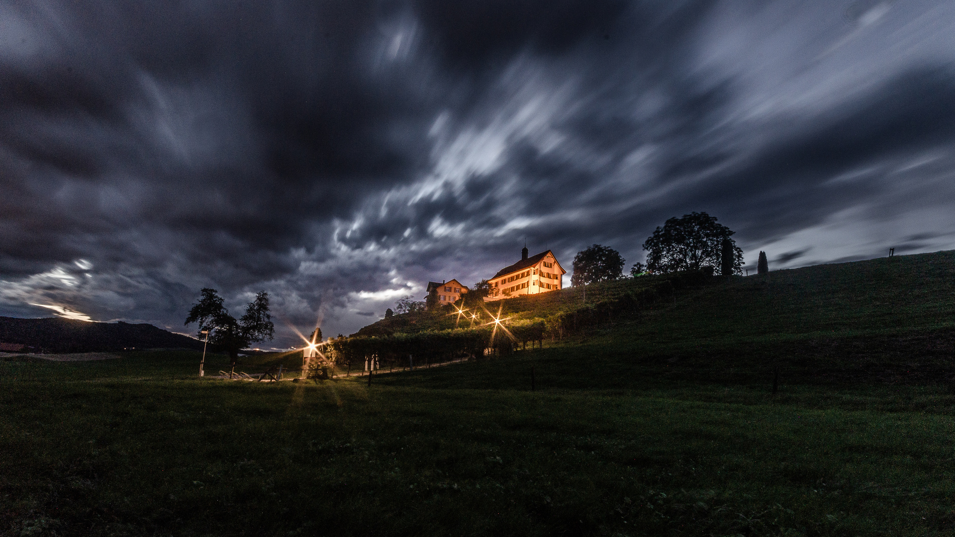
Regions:
M 131 347 L 202 350 L 202 341 L 146 323 L 91 323 L 59 317 L 0 317 L 0 343 L 19 343 L 52 353 L 96 353 Z

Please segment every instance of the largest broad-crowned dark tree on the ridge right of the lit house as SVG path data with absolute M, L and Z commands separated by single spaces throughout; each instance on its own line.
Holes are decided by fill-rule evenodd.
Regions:
M 705 212 L 670 218 L 647 238 L 647 269 L 651 272 L 716 269 L 722 266 L 723 239 L 732 247 L 732 273 L 741 274 L 743 250 L 732 240 L 732 231 Z

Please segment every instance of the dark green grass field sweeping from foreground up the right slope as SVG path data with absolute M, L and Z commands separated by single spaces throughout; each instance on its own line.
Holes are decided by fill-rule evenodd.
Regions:
M 0 362 L 0 532 L 955 534 L 953 275 L 940 252 L 718 280 L 371 387 Z

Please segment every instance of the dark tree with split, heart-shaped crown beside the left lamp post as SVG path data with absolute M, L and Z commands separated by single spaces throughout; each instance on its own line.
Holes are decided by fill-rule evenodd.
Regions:
M 185 324 L 199 323 L 200 333 L 209 331 L 209 343 L 223 347 L 235 366 L 239 351 L 252 342 L 272 339 L 275 326 L 268 312 L 268 293 L 265 291 L 255 295 L 255 300 L 245 307 L 245 313 L 238 321 L 225 309 L 223 302 L 217 290 L 203 289 L 199 302 L 189 310 Z

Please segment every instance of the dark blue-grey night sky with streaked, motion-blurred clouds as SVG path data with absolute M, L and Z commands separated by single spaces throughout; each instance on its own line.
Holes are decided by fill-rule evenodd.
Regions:
M 953 141 L 952 2 L 2 0 L 0 315 L 267 290 L 284 347 L 691 211 L 751 271 L 951 249 Z

